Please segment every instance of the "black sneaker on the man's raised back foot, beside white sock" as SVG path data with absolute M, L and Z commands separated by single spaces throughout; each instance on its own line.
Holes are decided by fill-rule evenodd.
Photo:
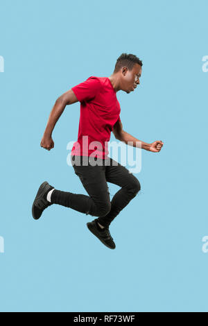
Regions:
M 48 194 L 52 189 L 53 187 L 51 187 L 46 181 L 40 185 L 32 207 L 32 214 L 35 220 L 38 220 L 38 218 L 42 216 L 44 209 L 52 205 L 52 203 L 49 203 L 49 201 L 46 200 L 46 194 Z

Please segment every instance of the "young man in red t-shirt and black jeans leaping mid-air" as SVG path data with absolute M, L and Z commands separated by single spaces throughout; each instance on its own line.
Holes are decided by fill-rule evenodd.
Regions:
M 131 146 L 154 153 L 158 153 L 163 146 L 162 141 L 154 141 L 152 144 L 140 141 L 125 132 L 121 123 L 121 108 L 116 92 L 133 92 L 139 85 L 141 67 L 142 62 L 136 55 L 122 53 L 109 78 L 91 76 L 62 94 L 55 102 L 41 146 L 48 151 L 54 147 L 52 132 L 55 123 L 66 105 L 80 101 L 78 141 L 73 144 L 71 150 L 71 163 L 89 196 L 60 191 L 48 182 L 43 182 L 33 203 L 33 218 L 40 218 L 44 209 L 53 204 L 98 216 L 94 221 L 87 223 L 87 227 L 105 246 L 116 248 L 109 230 L 110 223 L 121 209 L 135 198 L 140 190 L 140 183 L 128 169 L 107 156 L 110 134 L 113 132 L 116 139 L 125 144 L 131 141 Z M 111 201 L 107 182 L 121 187 Z

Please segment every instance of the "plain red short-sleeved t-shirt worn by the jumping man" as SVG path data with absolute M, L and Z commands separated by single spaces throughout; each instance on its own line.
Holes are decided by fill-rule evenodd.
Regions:
M 73 144 L 71 155 L 104 159 L 109 153 L 107 142 L 113 126 L 121 121 L 116 91 L 109 78 L 95 76 L 71 89 L 80 101 L 78 141 Z

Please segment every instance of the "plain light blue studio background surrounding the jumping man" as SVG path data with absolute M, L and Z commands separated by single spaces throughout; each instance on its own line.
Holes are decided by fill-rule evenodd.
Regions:
M 1 311 L 208 311 L 207 10 L 206 0 L 0 0 Z M 110 76 L 121 53 L 144 63 L 135 92 L 117 93 L 123 128 L 164 147 L 142 151 L 141 192 L 112 223 L 110 250 L 87 230 L 93 216 L 53 205 L 35 221 L 31 205 L 44 180 L 87 194 L 67 165 L 80 103 L 62 114 L 52 151 L 40 140 L 58 96 Z

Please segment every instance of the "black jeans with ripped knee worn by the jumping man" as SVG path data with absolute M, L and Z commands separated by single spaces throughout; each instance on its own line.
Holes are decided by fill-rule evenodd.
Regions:
M 89 196 L 54 190 L 51 203 L 71 207 L 78 212 L 98 216 L 101 225 L 108 227 L 113 219 L 121 212 L 141 189 L 139 180 L 124 166 L 112 160 L 97 159 L 96 165 L 90 164 L 92 158 L 83 156 L 71 157 L 73 169 L 80 178 Z M 107 182 L 121 187 L 110 201 Z

